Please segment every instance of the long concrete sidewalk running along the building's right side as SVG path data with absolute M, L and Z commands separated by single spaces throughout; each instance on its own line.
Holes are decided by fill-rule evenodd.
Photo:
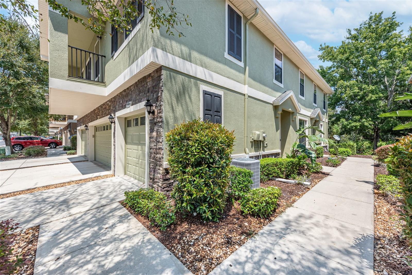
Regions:
M 348 157 L 210 274 L 373 274 L 373 160 Z

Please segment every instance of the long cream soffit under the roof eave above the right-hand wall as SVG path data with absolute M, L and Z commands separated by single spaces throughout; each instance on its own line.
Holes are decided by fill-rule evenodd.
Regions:
M 243 15 L 250 18 L 255 9 L 259 8 L 259 14 L 253 19 L 252 23 L 259 28 L 259 30 L 266 35 L 273 44 L 286 54 L 290 60 L 293 61 L 311 80 L 313 80 L 318 87 L 320 87 L 326 94 L 332 94 L 332 88 L 319 75 L 315 67 L 306 59 L 295 44 L 286 36 L 282 29 L 276 24 L 267 11 L 260 5 L 258 0 L 231 0 L 233 5 L 238 8 Z

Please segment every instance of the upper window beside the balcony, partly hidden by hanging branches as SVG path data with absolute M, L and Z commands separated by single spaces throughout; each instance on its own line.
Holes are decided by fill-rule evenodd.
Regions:
M 133 37 L 133 35 L 136 33 L 137 29 L 136 26 L 142 20 L 145 9 L 143 6 L 143 1 L 138 0 L 138 1 L 133 1 L 134 5 L 137 5 L 136 9 L 139 13 L 139 16 L 136 16 L 131 20 L 131 29 L 130 30 L 123 30 L 123 32 L 119 32 L 115 26 L 112 26 L 111 30 L 111 36 L 112 36 L 112 56 L 120 49 L 122 50 L 124 45 L 124 42 L 129 42 L 129 40 Z M 126 43 L 124 43 L 126 45 Z

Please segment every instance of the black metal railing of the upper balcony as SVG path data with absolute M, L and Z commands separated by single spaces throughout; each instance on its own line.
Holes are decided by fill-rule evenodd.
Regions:
M 105 82 L 104 68 L 106 56 L 68 46 L 69 76 L 96 82 Z

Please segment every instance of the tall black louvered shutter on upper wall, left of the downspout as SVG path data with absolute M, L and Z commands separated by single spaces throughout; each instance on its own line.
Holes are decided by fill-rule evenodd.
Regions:
M 227 53 L 242 61 L 242 16 L 227 5 Z

